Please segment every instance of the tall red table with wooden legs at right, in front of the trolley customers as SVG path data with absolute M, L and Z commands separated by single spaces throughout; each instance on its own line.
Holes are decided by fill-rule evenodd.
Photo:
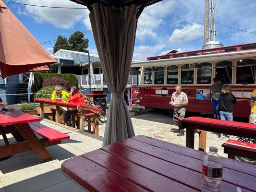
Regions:
M 218 132 L 239 137 L 256 139 L 256 125 L 251 123 L 216 120 L 203 117 L 188 117 L 182 120 L 182 129 L 186 129 L 186 147 L 194 149 L 195 132 L 199 135 L 199 148 L 206 151 L 206 132 Z

